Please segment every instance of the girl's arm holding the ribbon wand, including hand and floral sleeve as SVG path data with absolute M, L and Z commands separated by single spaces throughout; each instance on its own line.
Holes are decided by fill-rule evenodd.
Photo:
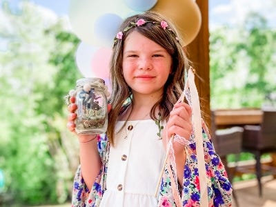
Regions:
M 164 144 L 168 143 L 168 139 L 174 135 L 183 137 L 193 137 L 192 135 L 192 123 L 191 123 L 191 110 L 190 106 L 185 103 L 177 103 L 170 112 L 170 118 L 164 128 Z M 204 159 L 206 163 L 206 175 L 208 182 L 208 198 L 210 204 L 215 202 L 217 206 L 224 204 L 230 206 L 232 186 L 228 180 L 224 165 L 215 149 L 213 148 L 208 129 L 202 123 L 202 132 L 204 138 Z M 191 136 L 192 135 L 192 136 Z M 185 140 L 184 140 L 185 141 Z M 181 142 L 181 141 L 180 141 Z M 195 143 L 193 144 L 181 144 L 178 141 L 172 142 L 172 148 L 175 155 L 176 174 L 179 184 L 182 186 L 181 200 L 184 206 L 196 206 L 200 200 L 200 188 L 199 188 L 199 174 L 197 168 L 197 153 Z M 186 153 L 185 153 L 186 152 Z M 168 166 L 166 166 L 168 169 Z M 165 177 L 161 184 L 161 197 L 159 201 L 166 199 L 166 192 L 170 186 L 171 179 L 167 179 L 168 170 L 165 170 Z M 169 183 L 166 183 L 169 181 Z M 168 190 L 168 191 L 167 191 Z

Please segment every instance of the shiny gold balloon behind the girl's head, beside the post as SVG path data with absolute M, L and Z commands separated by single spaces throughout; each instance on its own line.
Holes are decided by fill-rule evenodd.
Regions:
M 185 46 L 197 37 L 201 26 L 201 12 L 195 1 L 159 0 L 151 10 L 159 12 L 175 23 Z

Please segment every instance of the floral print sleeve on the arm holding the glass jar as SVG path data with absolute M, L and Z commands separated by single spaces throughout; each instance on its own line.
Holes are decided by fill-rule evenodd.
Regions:
M 81 166 L 75 173 L 74 186 L 72 192 L 72 207 L 88 207 L 88 206 L 99 206 L 101 197 L 105 190 L 105 179 L 106 179 L 106 161 L 108 156 L 108 141 L 106 135 L 98 135 L 98 150 L 102 161 L 102 168 L 99 175 L 95 179 L 95 183 L 92 189 L 88 189 L 81 175 Z

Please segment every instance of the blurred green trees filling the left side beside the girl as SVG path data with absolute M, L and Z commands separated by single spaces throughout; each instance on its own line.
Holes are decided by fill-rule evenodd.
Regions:
M 80 76 L 79 40 L 63 19 L 26 1 L 21 6 L 14 14 L 4 4 L 1 15 L 0 169 L 12 202 L 63 202 L 78 162 L 63 97 Z

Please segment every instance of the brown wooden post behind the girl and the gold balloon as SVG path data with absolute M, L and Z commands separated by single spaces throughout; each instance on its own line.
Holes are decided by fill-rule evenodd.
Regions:
M 187 46 L 188 57 L 196 70 L 195 83 L 199 92 L 202 117 L 210 128 L 210 66 L 208 0 L 197 0 L 201 11 L 201 28 L 197 37 Z

